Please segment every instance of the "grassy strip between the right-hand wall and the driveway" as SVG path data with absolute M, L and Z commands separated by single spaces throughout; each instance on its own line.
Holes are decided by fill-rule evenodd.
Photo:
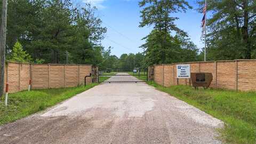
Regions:
M 256 143 L 256 92 L 148 84 L 225 122 L 220 133 L 226 143 Z

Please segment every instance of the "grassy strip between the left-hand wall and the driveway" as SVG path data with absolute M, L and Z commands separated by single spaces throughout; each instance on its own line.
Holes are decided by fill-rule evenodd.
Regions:
M 98 85 L 92 83 L 86 86 L 22 91 L 9 94 L 8 106 L 4 106 L 4 98 L 0 102 L 0 125 L 16 121 L 17 119 L 44 110 L 47 107 L 73 97 L 74 95 Z

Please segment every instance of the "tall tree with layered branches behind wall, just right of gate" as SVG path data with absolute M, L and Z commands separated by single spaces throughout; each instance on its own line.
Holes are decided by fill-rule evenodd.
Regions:
M 139 27 L 154 26 L 154 30 L 143 38 L 146 39 L 146 44 L 141 46 L 146 49 L 145 62 L 153 65 L 174 61 L 177 54 L 180 54 L 179 44 L 175 44 L 175 37 L 170 34 L 187 37 L 187 33 L 175 25 L 174 21 L 179 18 L 171 17 L 170 14 L 186 12 L 191 6 L 184 0 L 143 0 L 139 2 L 139 6 L 143 7 Z

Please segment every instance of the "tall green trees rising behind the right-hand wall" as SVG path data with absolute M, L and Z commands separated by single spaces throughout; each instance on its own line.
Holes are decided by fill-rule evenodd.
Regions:
M 197 11 L 202 13 L 205 0 L 197 4 Z M 154 26 L 142 45 L 149 65 L 204 59 L 204 51 L 199 52 L 186 31 L 175 25 L 179 18 L 172 17 L 173 13 L 193 9 L 188 1 L 142 0 L 139 6 L 140 27 Z M 255 0 L 207 0 L 207 18 L 206 60 L 256 59 Z

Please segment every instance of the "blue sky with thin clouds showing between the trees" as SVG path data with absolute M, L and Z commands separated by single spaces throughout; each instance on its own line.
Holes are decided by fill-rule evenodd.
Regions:
M 102 46 L 107 49 L 113 47 L 111 54 L 118 57 L 123 53 L 143 52 L 140 45 L 145 43 L 141 40 L 147 36 L 152 27 L 139 28 L 140 10 L 139 0 L 75 0 L 80 2 L 89 2 L 98 8 L 97 16 L 102 20 L 102 26 L 107 27 L 105 39 Z M 196 0 L 188 0 L 193 6 L 192 10 L 186 13 L 173 13 L 173 17 L 179 20 L 175 24 L 185 30 L 191 41 L 193 41 L 199 49 L 203 47 L 201 41 L 201 20 L 202 13 L 198 13 Z

